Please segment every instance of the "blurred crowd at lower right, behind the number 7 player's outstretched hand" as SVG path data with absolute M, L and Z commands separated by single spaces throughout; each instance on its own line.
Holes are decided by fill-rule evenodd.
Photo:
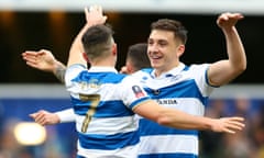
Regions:
M 245 129 L 237 134 L 201 132 L 201 158 L 264 158 L 264 100 L 239 95 L 235 99 L 215 99 L 206 115 L 245 117 Z

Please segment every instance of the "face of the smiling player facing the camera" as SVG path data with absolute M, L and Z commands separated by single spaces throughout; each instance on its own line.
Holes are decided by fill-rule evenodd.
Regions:
M 157 71 L 165 72 L 176 67 L 179 44 L 169 31 L 153 30 L 148 37 L 147 56 Z

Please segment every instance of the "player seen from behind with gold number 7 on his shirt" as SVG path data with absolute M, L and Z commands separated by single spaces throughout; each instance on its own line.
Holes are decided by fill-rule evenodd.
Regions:
M 134 113 L 169 127 L 227 133 L 243 128 L 242 117 L 208 119 L 158 105 L 133 76 L 119 75 L 114 69 L 117 44 L 112 31 L 98 24 L 106 20 L 101 8 L 92 7 L 87 19 L 70 47 L 65 74 L 79 136 L 78 158 L 138 157 Z M 91 64 L 88 70 L 84 52 Z

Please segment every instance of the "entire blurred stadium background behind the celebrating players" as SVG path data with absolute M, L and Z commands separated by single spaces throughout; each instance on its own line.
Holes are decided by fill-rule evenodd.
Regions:
M 183 56 L 186 64 L 226 58 L 217 15 L 243 13 L 245 19 L 237 27 L 248 69 L 213 92 L 206 114 L 246 116 L 246 129 L 237 135 L 201 132 L 200 157 L 264 157 L 263 0 L 0 0 L 0 158 L 74 158 L 74 123 L 44 128 L 28 124 L 33 123 L 32 112 L 55 112 L 70 104 L 63 84 L 52 74 L 28 67 L 21 53 L 46 48 L 66 63 L 70 43 L 85 22 L 84 7 L 90 4 L 103 7 L 116 32 L 118 69 L 124 64 L 128 46 L 145 42 L 150 23 L 161 18 L 179 20 L 189 31 Z

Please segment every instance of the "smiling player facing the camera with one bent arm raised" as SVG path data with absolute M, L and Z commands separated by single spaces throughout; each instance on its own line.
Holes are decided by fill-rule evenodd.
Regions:
M 243 16 L 222 13 L 218 25 L 227 40 L 229 59 L 213 64 L 186 66 L 179 57 L 185 52 L 187 31 L 177 21 L 160 20 L 152 24 L 147 55 L 154 69 L 136 72 L 144 89 L 160 104 L 204 115 L 208 97 L 244 71 L 246 58 L 235 29 Z M 173 129 L 140 120 L 140 157 L 198 157 L 198 132 Z M 158 142 L 158 144 L 156 144 Z

